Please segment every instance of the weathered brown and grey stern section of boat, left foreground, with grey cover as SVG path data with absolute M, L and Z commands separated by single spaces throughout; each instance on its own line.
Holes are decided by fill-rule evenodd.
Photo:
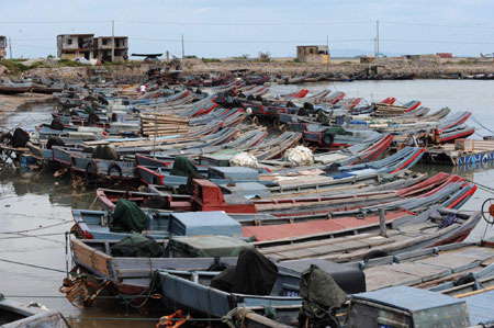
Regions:
M 70 247 L 74 261 L 81 272 L 90 272 L 110 281 L 123 295 L 138 295 L 146 292 L 158 269 L 209 268 L 217 263 L 220 257 L 222 263 L 234 265 L 238 253 L 248 247 L 245 241 L 226 236 L 183 237 L 177 240 L 183 240 L 184 247 L 172 258 L 115 257 L 112 256 L 111 249 L 117 240 L 71 238 Z M 168 242 L 167 240 L 157 241 L 162 246 Z M 146 299 L 146 296 L 143 298 Z

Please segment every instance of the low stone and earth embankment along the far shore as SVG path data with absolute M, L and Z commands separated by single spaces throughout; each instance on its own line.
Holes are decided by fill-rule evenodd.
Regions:
M 161 67 L 166 66 L 162 61 Z M 379 66 L 379 73 L 409 75 L 414 73 L 418 79 L 444 79 L 456 76 L 468 77 L 481 73 L 494 73 L 494 61 L 468 61 L 448 60 L 442 63 L 413 63 L 406 60 L 378 60 L 371 64 L 360 64 L 358 60 L 335 60 L 329 65 L 295 63 L 293 60 L 272 60 L 258 63 L 243 59 L 222 59 L 218 63 L 204 63 L 202 59 L 184 59 L 182 61 L 183 75 L 232 73 L 235 70 L 248 70 L 256 75 L 358 75 L 363 73 L 373 66 Z M 85 67 L 58 67 L 36 68 L 24 72 L 29 77 L 44 77 L 53 79 L 80 80 L 91 77 L 108 78 L 113 80 L 138 81 L 146 77 L 149 68 L 156 64 L 132 61 L 113 66 L 85 66 Z

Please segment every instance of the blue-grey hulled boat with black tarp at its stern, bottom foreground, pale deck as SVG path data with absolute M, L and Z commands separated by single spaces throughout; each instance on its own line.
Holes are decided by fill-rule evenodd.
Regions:
M 476 256 L 479 258 L 476 258 Z M 453 260 L 450 260 L 453 257 Z M 393 265 L 381 264 L 374 268 L 366 269 L 366 284 L 363 290 L 373 291 L 392 285 L 419 285 L 430 283 L 434 281 L 441 281 L 445 279 L 454 279 L 459 273 L 464 273 L 465 270 L 480 267 L 490 271 L 487 275 L 493 275 L 494 264 L 485 268 L 480 263 L 484 261 L 492 261 L 494 258 L 494 249 L 482 248 L 474 244 L 439 246 L 429 249 L 423 249 L 414 252 L 405 252 L 396 257 L 388 257 L 388 259 L 380 258 L 370 261 L 381 263 L 385 261 L 396 261 Z M 369 263 L 369 262 L 366 262 Z M 325 260 L 304 260 L 279 263 L 279 274 L 271 295 L 248 295 L 242 293 L 223 292 L 210 286 L 212 278 L 217 272 L 205 271 L 179 271 L 179 270 L 159 270 L 158 275 L 161 285 L 165 304 L 180 305 L 194 314 L 202 314 L 207 317 L 223 317 L 229 313 L 234 307 L 243 307 L 244 309 L 256 310 L 263 306 L 271 306 L 277 310 L 277 314 L 282 323 L 293 324 L 296 321 L 302 298 L 299 296 L 299 283 L 301 272 L 308 269 L 311 264 L 316 264 L 321 269 L 326 268 L 330 270 L 330 274 L 335 275 L 335 281 L 338 274 L 351 274 L 350 265 L 341 267 L 340 271 L 334 269 L 334 264 Z M 363 262 L 360 263 L 361 265 Z M 364 264 L 363 264 L 364 265 Z M 333 270 L 332 270 L 333 269 Z M 372 269 L 380 271 L 372 272 Z M 388 269 L 385 271 L 384 269 Z M 360 268 L 355 268 L 358 272 Z M 392 271 L 392 272 L 390 272 Z M 485 271 L 485 270 L 484 270 Z M 368 275 L 368 272 L 370 273 Z M 290 273 L 290 278 L 287 274 Z M 353 285 L 358 285 L 358 279 L 353 278 Z M 381 285 L 379 285 L 381 283 Z M 345 290 L 345 282 L 339 282 L 339 285 Z M 279 289 L 278 286 L 282 286 Z M 353 291 L 356 297 L 366 294 L 358 294 Z M 353 299 L 351 301 L 353 302 Z M 352 307 L 350 305 L 349 312 Z

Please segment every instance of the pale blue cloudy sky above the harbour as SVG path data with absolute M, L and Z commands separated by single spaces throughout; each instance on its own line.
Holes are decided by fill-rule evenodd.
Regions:
M 383 54 L 494 52 L 490 0 L 0 0 L 0 35 L 13 57 L 56 55 L 56 35 L 130 37 L 130 53 L 228 57 L 260 50 L 294 57 L 295 46 L 326 44 L 333 54 L 374 53 L 380 21 Z M 353 50 L 353 52 L 347 52 Z

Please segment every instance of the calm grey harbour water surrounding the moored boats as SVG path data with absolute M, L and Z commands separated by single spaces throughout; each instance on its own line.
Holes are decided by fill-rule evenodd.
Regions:
M 471 111 L 478 122 L 493 131 L 469 120 L 467 124 L 478 128 L 474 138 L 494 135 L 494 80 L 321 82 L 272 86 L 271 90 L 282 94 L 301 88 L 344 91 L 347 97 L 361 97 L 369 102 L 388 97 L 403 103 L 419 100 L 433 112 L 445 106 L 452 111 Z M 33 128 L 41 122 L 49 122 L 53 110 L 53 104 L 25 106 L 0 118 L 0 125 Z M 494 192 L 489 191 L 489 188 L 494 189 L 494 163 L 486 163 L 484 168 L 419 163 L 414 170 L 429 174 L 439 171 L 456 173 L 485 185 L 479 188 L 463 210 L 480 211 L 486 199 L 494 199 Z M 72 189 L 67 177 L 54 178 L 53 173 L 0 168 L 0 293 L 22 303 L 36 302 L 57 309 L 69 318 L 72 327 L 155 327 L 157 321 L 154 318 L 159 315 L 143 314 L 111 302 L 79 309 L 58 292 L 66 270 L 72 267 L 65 234 L 72 225 L 70 210 L 99 208 L 94 196 L 94 190 Z M 481 220 L 469 240 L 480 240 L 484 234 L 492 237 L 494 229 Z

